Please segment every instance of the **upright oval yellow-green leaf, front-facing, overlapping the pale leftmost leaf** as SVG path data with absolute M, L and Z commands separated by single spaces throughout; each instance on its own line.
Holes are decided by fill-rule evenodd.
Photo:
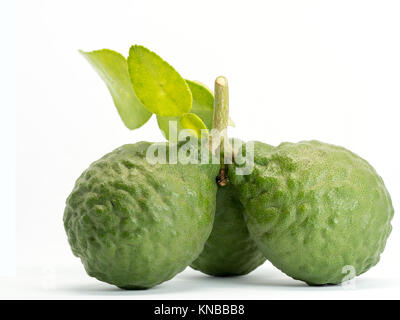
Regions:
M 177 117 L 192 108 L 192 94 L 186 81 L 154 52 L 143 46 L 132 46 L 128 69 L 137 97 L 151 112 Z

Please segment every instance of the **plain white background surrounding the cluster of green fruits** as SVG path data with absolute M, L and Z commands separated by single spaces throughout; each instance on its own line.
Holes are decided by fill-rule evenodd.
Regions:
M 399 16 L 398 1 L 382 0 L 17 1 L 17 275 L 0 279 L 0 297 L 400 298 L 398 214 L 381 262 L 350 289 L 307 287 L 266 263 L 240 278 L 187 269 L 152 290 L 121 291 L 86 275 L 62 224 L 65 198 L 91 162 L 163 139 L 154 118 L 126 129 L 78 54 L 127 55 L 132 44 L 210 87 L 227 76 L 231 136 L 345 146 L 376 168 L 399 208 Z

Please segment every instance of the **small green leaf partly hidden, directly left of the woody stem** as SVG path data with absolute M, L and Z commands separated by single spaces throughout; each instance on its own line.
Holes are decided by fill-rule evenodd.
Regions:
M 203 120 L 208 129 L 212 128 L 212 117 L 214 108 L 214 95 L 210 89 L 198 81 L 186 80 L 193 96 L 191 113 Z

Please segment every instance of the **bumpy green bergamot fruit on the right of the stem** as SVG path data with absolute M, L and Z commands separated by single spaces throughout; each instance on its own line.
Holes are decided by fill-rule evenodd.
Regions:
M 252 174 L 231 181 L 260 250 L 308 284 L 338 284 L 378 263 L 393 207 L 381 177 L 363 159 L 318 141 L 255 144 Z M 345 267 L 352 266 L 352 267 Z M 345 268 L 344 268 L 345 267 Z M 344 268 L 344 269 L 343 269 Z

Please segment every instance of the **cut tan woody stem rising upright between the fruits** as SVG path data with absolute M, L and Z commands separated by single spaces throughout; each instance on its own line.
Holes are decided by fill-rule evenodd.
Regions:
M 217 183 L 223 187 L 227 184 L 226 166 L 224 154 L 232 153 L 232 147 L 228 140 L 229 124 L 229 87 L 228 80 L 219 76 L 215 79 L 214 86 L 214 114 L 212 131 L 210 135 L 210 146 L 213 152 L 220 150 L 221 169 L 217 177 Z

